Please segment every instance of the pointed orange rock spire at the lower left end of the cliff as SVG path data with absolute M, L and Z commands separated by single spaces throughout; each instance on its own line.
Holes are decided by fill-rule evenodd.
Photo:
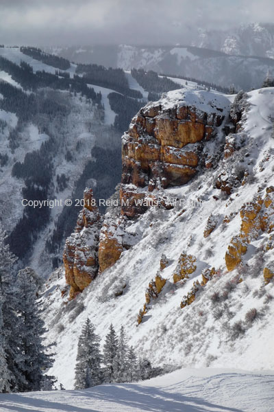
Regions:
M 75 231 L 66 239 L 63 254 L 66 283 L 71 286 L 71 298 L 82 292 L 97 276 L 100 229 L 101 216 L 92 196 L 92 189 L 86 189 L 84 207 L 79 213 Z

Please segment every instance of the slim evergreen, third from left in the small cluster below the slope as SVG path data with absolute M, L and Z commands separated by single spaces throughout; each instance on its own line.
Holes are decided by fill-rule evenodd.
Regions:
M 129 382 L 127 352 L 128 345 L 127 338 L 125 336 L 125 328 L 121 326 L 117 351 L 113 362 L 115 382 Z

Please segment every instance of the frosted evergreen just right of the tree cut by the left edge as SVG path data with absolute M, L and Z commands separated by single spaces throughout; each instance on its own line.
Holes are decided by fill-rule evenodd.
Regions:
M 52 389 L 54 378 L 43 374 L 53 364 L 47 347 L 42 344 L 45 333 L 44 321 L 40 318 L 36 301 L 37 277 L 30 268 L 23 269 L 17 275 L 17 314 L 21 319 L 21 328 L 16 339 L 22 361 L 18 367 L 25 378 L 20 391 L 40 391 Z

